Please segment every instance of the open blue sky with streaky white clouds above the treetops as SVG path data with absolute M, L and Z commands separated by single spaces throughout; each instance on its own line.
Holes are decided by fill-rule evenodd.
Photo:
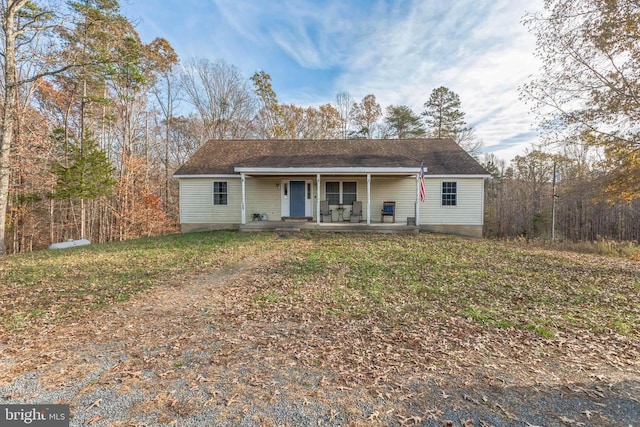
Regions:
M 485 152 L 506 160 L 536 142 L 518 87 L 535 73 L 520 23 L 542 0 L 121 0 L 144 42 L 164 37 L 181 60 L 223 59 L 271 75 L 281 103 L 357 101 L 416 113 L 431 91 L 460 95 Z

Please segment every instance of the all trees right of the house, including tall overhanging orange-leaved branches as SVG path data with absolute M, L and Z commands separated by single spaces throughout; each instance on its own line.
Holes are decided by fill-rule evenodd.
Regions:
M 548 238 L 555 199 L 558 238 L 640 242 L 640 2 L 545 0 L 524 22 L 542 67 L 521 93 L 544 149 L 487 159 L 487 233 Z

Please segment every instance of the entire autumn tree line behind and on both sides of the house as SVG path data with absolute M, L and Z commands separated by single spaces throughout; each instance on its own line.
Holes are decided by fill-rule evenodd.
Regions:
M 0 218 L 6 218 L 0 253 L 80 237 L 103 242 L 177 231 L 171 175 L 211 138 L 451 137 L 476 157 L 482 149 L 459 96 L 446 87 L 434 89 L 418 113 L 403 105 L 383 109 L 373 94 L 356 100 L 347 92 L 333 103 L 296 106 L 279 102 L 264 71 L 247 78 L 224 61 L 180 62 L 165 39 L 144 43 L 117 0 L 0 3 Z M 542 84 L 525 89 L 535 94 Z M 487 185 L 489 235 L 545 236 L 553 159 L 561 170 L 563 235 L 638 238 L 637 180 L 627 176 L 625 202 L 609 191 L 614 173 L 637 163 L 636 135 L 616 135 L 606 146 L 597 145 L 606 139 L 601 134 L 582 129 L 580 136 L 591 144 L 590 156 L 605 161 L 537 151 L 508 167 L 486 159 L 494 176 Z

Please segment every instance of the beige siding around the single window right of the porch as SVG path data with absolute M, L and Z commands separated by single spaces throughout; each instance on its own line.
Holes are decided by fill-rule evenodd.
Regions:
M 457 205 L 442 206 L 442 183 L 457 182 Z M 482 225 L 484 180 L 451 178 L 425 180 L 427 197 L 420 204 L 420 224 Z

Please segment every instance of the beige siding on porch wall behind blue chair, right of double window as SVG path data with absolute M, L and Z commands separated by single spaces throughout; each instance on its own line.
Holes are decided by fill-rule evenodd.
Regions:
M 407 217 L 416 216 L 415 200 L 415 177 L 371 178 L 371 222 L 381 221 L 382 203 L 389 201 L 396 202 L 396 222 L 406 223 Z M 390 218 L 384 220 L 390 221 Z

